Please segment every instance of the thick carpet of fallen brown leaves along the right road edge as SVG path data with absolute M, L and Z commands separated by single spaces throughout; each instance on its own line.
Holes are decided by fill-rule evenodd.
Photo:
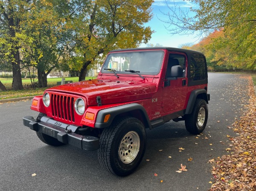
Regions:
M 240 120 L 233 124 L 238 135 L 230 137 L 230 155 L 209 162 L 213 163 L 215 182 L 210 191 L 256 191 L 256 96 L 250 76 L 249 105 Z

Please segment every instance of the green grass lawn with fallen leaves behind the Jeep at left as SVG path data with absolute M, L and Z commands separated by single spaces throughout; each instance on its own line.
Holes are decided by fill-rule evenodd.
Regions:
M 62 77 L 56 77 L 56 78 L 48 78 L 47 83 L 48 87 L 53 87 L 57 85 L 57 82 L 61 82 Z M 95 77 L 93 77 L 95 78 Z M 86 77 L 85 80 L 92 79 L 92 77 Z M 1 82 L 4 86 L 6 86 L 8 91 L 1 91 L 0 90 L 0 100 L 3 99 L 9 99 L 9 98 L 16 98 L 16 97 L 26 97 L 26 96 L 36 96 L 36 95 L 42 95 L 44 93 L 44 90 L 47 88 L 36 88 L 33 90 L 32 88 L 27 87 L 31 85 L 30 79 L 22 79 L 22 85 L 24 87 L 23 90 L 11 90 L 12 89 L 12 78 L 0 78 Z M 66 81 L 73 81 L 78 82 L 79 77 L 65 77 Z M 37 79 L 35 79 L 37 81 Z

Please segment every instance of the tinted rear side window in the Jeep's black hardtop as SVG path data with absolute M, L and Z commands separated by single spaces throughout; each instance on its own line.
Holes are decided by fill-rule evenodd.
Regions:
M 190 61 L 190 80 L 204 80 L 206 78 L 206 63 L 202 54 L 192 54 Z

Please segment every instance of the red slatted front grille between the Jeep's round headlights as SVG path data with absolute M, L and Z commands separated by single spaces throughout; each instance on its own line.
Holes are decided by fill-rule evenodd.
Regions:
M 75 122 L 74 97 L 51 94 L 52 117 Z

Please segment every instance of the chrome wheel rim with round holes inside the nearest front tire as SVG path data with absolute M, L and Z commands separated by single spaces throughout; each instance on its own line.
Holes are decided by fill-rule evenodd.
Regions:
M 135 131 L 128 132 L 119 145 L 119 158 L 125 163 L 131 163 L 140 151 L 140 137 Z

